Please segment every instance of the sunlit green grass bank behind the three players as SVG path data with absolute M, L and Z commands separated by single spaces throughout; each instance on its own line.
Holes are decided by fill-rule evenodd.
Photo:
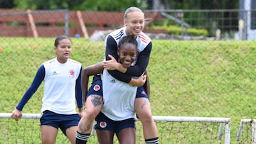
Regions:
M 0 112 L 11 113 L 38 67 L 55 57 L 54 38 L 0 40 Z M 73 39 L 71 58 L 83 67 L 104 55 L 103 42 Z M 240 119 L 256 118 L 255 57 L 255 41 L 153 40 L 148 66 L 152 113 L 231 118 L 235 142 Z M 42 96 L 40 87 L 23 113 L 40 113 Z

